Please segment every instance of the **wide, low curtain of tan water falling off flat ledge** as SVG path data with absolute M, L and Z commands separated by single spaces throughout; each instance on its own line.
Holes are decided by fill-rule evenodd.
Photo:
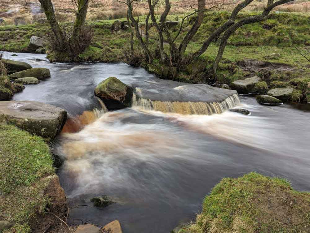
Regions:
M 179 114 L 220 114 L 224 110 L 233 108 L 236 103 L 240 103 L 237 94 L 226 98 L 222 102 L 170 102 L 170 101 L 153 101 L 149 99 L 137 98 L 134 94 L 132 106 L 138 106 L 144 110 L 155 110 L 161 112 L 173 112 Z

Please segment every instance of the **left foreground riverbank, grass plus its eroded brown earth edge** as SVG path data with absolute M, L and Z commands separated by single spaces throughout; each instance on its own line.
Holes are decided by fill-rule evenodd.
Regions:
M 6 226 L 0 230 L 43 232 L 59 225 L 55 215 L 63 219 L 68 209 L 49 146 L 12 125 L 0 125 L 0 134 L 0 221 Z

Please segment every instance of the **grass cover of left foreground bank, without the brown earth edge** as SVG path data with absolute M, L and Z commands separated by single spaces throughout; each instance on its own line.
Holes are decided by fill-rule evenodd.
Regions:
M 0 125 L 0 219 L 13 222 L 4 233 L 30 233 L 29 219 L 44 213 L 49 198 L 41 178 L 54 174 L 48 145 L 11 125 Z

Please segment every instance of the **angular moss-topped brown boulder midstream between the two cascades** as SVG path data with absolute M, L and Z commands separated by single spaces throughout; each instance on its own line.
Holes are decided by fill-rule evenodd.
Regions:
M 109 77 L 95 88 L 99 97 L 109 110 L 117 110 L 131 106 L 132 88 L 115 77 Z

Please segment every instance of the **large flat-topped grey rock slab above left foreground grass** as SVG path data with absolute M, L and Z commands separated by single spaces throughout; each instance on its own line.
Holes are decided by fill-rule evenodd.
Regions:
M 16 127 L 49 141 L 61 131 L 67 112 L 61 108 L 35 101 L 1 101 L 0 122 Z

